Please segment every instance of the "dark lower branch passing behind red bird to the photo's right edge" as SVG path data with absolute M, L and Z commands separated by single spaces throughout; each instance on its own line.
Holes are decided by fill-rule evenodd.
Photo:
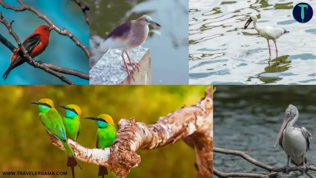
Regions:
M 2 44 L 4 44 L 4 46 L 8 47 L 12 53 L 14 53 L 14 51 L 16 49 L 15 46 L 12 43 L 10 43 L 10 41 L 8 39 L 4 38 L 1 34 L 0 34 L 0 42 Z M 83 72 L 77 71 L 75 69 L 68 69 L 68 68 L 64 68 L 64 67 L 55 66 L 53 64 L 46 64 L 46 63 L 36 61 L 36 60 L 34 60 L 34 61 L 52 69 L 53 71 L 64 73 L 64 74 L 69 74 L 69 75 L 74 75 L 74 76 L 77 76 L 81 79 L 89 80 L 89 74 L 87 74 L 87 73 L 83 73 Z

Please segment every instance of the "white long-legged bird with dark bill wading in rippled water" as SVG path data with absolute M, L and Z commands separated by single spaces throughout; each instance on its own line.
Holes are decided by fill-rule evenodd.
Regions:
M 271 56 L 271 49 L 270 49 L 270 44 L 269 40 L 272 40 L 276 46 L 276 39 L 280 38 L 285 33 L 289 33 L 288 30 L 283 29 L 281 27 L 272 27 L 272 26 L 265 26 L 265 27 L 258 27 L 256 22 L 258 18 L 256 15 L 251 15 L 249 19 L 247 20 L 244 28 L 247 29 L 249 24 L 253 21 L 253 26 L 257 30 L 260 36 L 264 37 L 268 41 L 268 47 L 269 47 L 269 54 Z M 276 56 L 277 56 L 277 47 L 276 47 Z

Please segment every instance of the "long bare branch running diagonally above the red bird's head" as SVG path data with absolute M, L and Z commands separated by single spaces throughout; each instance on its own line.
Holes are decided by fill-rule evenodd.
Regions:
M 68 36 L 72 41 L 75 42 L 75 44 L 82 48 L 82 50 L 85 52 L 85 54 L 88 56 L 88 58 L 90 57 L 90 53 L 89 50 L 86 46 L 84 46 L 76 37 L 75 35 L 73 35 L 72 33 L 70 33 L 66 28 L 64 28 L 64 30 L 59 29 L 51 20 L 49 20 L 46 16 L 44 16 L 43 14 L 41 14 L 39 11 L 35 10 L 32 6 L 28 6 L 25 5 L 25 3 L 23 3 L 21 0 L 17 0 L 17 2 L 19 2 L 22 7 L 15 7 L 15 6 L 10 6 L 7 3 L 4 3 L 3 0 L 0 0 L 0 4 L 5 8 L 5 9 L 12 9 L 14 11 L 24 11 L 24 10 L 30 10 L 32 11 L 34 14 L 36 14 L 40 19 L 43 19 L 45 22 L 47 22 L 50 26 L 55 27 L 55 31 L 57 31 L 57 33 L 59 33 L 60 35 L 65 35 Z

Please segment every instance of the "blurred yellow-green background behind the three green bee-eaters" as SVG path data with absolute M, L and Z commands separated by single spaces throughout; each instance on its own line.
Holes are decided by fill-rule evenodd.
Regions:
M 0 167 L 2 171 L 67 171 L 66 153 L 54 146 L 38 118 L 36 105 L 49 98 L 55 105 L 76 104 L 82 117 L 109 114 L 117 123 L 121 118 L 152 124 L 161 116 L 183 105 L 195 104 L 204 96 L 206 86 L 0 86 Z M 64 110 L 57 107 L 64 117 Z M 77 140 L 85 147 L 95 147 L 97 125 L 81 119 Z M 195 177 L 195 153 L 184 142 L 154 150 L 138 150 L 142 161 L 127 177 Z M 79 161 L 83 170 L 75 175 L 97 177 L 98 166 Z M 1 174 L 0 177 L 3 175 Z M 31 177 L 31 176 L 24 176 Z M 36 176 L 32 176 L 36 177 Z M 40 176 L 39 176 L 40 177 Z M 42 176 L 41 176 L 42 177 Z M 110 172 L 107 177 L 116 177 Z

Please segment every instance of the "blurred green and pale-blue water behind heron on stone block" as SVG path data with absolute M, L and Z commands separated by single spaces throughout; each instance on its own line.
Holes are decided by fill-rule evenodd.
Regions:
M 90 36 L 105 38 L 118 25 L 144 14 L 159 23 L 161 35 L 149 33 L 142 45 L 150 48 L 152 84 L 188 84 L 188 0 L 91 0 L 90 4 Z

